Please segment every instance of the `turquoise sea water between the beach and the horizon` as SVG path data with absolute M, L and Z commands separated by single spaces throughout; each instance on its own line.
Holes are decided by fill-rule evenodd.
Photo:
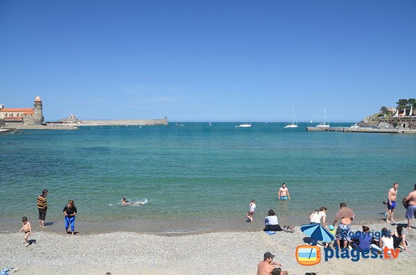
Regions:
M 139 231 L 248 229 L 251 199 L 256 227 L 268 209 L 308 222 L 313 209 L 327 206 L 331 220 L 340 202 L 358 218 L 377 219 L 394 182 L 399 199 L 416 183 L 415 135 L 306 132 L 315 123 L 180 124 L 1 134 L 0 222 L 37 220 L 44 188 L 53 224 L 68 199 L 77 221 L 135 224 Z M 290 201 L 277 200 L 282 182 Z M 144 204 L 121 206 L 121 197 Z

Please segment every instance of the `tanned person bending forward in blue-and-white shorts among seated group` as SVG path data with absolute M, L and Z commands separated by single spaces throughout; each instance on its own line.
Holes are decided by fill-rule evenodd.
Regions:
M 336 243 L 338 247 L 340 247 L 340 240 L 344 241 L 343 248 L 347 248 L 348 242 L 351 240 L 351 236 L 349 235 L 351 230 L 352 220 L 354 220 L 355 215 L 352 209 L 347 207 L 345 202 L 340 204 L 340 211 L 335 216 L 335 220 L 333 220 L 333 226 L 340 220 L 340 225 L 336 229 Z

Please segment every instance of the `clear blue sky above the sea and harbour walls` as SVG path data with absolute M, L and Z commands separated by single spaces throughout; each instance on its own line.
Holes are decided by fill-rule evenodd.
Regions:
M 356 121 L 416 97 L 416 1 L 0 0 L 0 103 L 46 121 Z

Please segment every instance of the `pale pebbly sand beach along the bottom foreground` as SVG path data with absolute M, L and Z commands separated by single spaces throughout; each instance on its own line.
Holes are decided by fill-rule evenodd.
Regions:
M 372 230 L 395 228 L 385 222 L 367 225 Z M 358 229 L 354 226 L 354 231 Z M 35 230 L 29 247 L 24 247 L 23 233 L 0 234 L 0 269 L 15 267 L 19 269 L 16 274 L 256 274 L 263 254 L 271 251 L 289 274 L 405 274 L 415 270 L 416 259 L 416 229 L 407 235 L 410 253 L 403 251 L 395 260 L 322 259 L 309 267 L 295 259 L 296 247 L 306 245 L 299 227 L 295 233 L 274 236 L 263 231 L 193 235 L 80 232 L 70 236 Z

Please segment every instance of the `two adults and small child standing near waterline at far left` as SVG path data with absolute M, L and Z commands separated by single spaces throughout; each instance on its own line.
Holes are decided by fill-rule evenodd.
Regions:
M 42 194 L 37 196 L 37 210 L 39 212 L 39 227 L 45 227 L 45 218 L 46 218 L 46 211 L 48 210 L 48 203 L 46 201 L 46 196 L 48 195 L 48 190 L 42 190 Z M 62 211 L 64 215 L 64 222 L 65 222 L 65 231 L 68 232 L 68 228 L 71 227 L 72 235 L 75 235 L 75 215 L 77 213 L 76 206 L 73 203 L 73 199 L 69 199 L 67 205 L 64 207 Z M 21 219 L 23 226 L 19 230 L 19 232 L 24 231 L 24 243 L 25 246 L 28 247 L 30 245 L 29 236 L 33 234 L 31 222 L 28 221 L 27 217 L 23 217 Z

